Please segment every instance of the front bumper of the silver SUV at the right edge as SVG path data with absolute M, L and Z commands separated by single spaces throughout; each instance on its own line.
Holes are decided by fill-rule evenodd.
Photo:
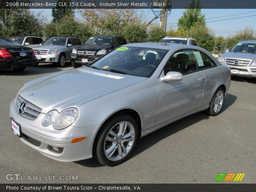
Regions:
M 256 78 L 256 67 L 227 66 L 230 68 L 232 76 Z

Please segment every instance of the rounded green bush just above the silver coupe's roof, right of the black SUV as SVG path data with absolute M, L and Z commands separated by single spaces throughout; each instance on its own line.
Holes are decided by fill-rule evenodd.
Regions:
M 141 25 L 140 23 L 132 23 L 127 25 L 124 28 L 123 35 L 129 43 L 146 42 L 148 40 L 146 26 Z

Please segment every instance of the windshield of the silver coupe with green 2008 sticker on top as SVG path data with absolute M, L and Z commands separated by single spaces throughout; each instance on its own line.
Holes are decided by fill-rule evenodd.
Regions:
M 150 77 L 168 50 L 142 47 L 119 47 L 90 67 L 128 75 Z

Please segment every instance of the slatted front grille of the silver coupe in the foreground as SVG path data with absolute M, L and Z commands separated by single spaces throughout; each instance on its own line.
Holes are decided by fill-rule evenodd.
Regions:
M 20 116 L 22 116 L 26 119 L 32 120 L 32 121 L 35 120 L 42 112 L 42 109 L 39 108 L 38 106 L 35 106 L 34 104 L 28 102 L 21 96 L 18 96 L 15 101 L 15 109 L 18 112 L 18 114 L 19 114 L 19 107 L 23 102 L 26 103 L 26 107 L 24 109 L 24 112 L 22 114 L 20 114 Z

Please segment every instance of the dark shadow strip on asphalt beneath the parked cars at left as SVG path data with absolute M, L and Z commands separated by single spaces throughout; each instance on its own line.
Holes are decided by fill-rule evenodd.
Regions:
M 71 64 L 66 64 L 65 67 L 71 67 Z M 1 75 L 7 76 L 31 76 L 31 75 L 40 75 L 52 72 L 59 72 L 65 68 L 57 68 L 54 64 L 39 64 L 38 66 L 27 67 L 24 71 L 15 71 L 12 69 L 1 69 Z

